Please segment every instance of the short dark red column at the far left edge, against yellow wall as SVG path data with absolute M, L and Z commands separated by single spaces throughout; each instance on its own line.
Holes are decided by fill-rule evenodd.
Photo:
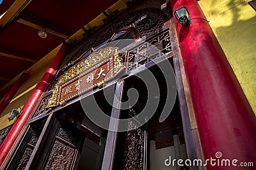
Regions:
M 3 101 L 0 104 L 0 115 L 1 113 L 3 113 L 4 109 L 6 108 L 6 106 L 8 106 L 8 104 L 10 103 L 10 101 L 12 100 L 13 96 L 17 93 L 17 91 L 20 89 L 20 86 L 24 83 L 24 81 L 27 80 L 29 74 L 28 73 L 22 73 L 20 78 L 15 82 L 15 84 L 13 85 L 13 87 L 10 89 L 10 91 L 8 92 L 8 94 L 6 94 L 6 96 L 4 97 Z

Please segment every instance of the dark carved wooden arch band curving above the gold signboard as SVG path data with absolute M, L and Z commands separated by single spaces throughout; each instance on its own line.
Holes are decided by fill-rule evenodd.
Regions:
M 104 31 L 95 34 L 92 38 L 90 37 L 90 40 L 87 38 L 86 41 L 84 41 L 83 46 L 81 46 L 76 53 L 70 53 L 70 55 L 72 55 L 71 60 L 63 66 L 62 71 L 58 74 L 56 80 L 58 81 L 65 71 L 74 66 L 74 64 L 77 63 L 77 59 L 81 57 L 84 52 L 92 49 L 95 43 L 102 41 L 102 38 L 108 37 L 111 32 L 113 33 L 124 27 L 134 27 L 140 33 L 140 38 L 145 38 L 146 36 L 156 34 L 159 30 L 163 29 L 165 17 L 167 18 L 163 11 L 157 8 L 150 8 L 150 10 L 147 11 L 137 11 L 114 22 L 109 27 L 106 27 Z M 83 57 L 81 58 L 83 59 Z M 55 83 L 57 81 L 52 82 L 49 90 L 55 89 Z

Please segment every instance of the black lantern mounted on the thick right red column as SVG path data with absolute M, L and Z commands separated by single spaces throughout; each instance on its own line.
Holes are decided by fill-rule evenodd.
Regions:
M 189 17 L 188 9 L 186 6 L 180 6 L 177 10 L 174 11 L 174 15 L 182 25 L 190 25 L 191 19 Z

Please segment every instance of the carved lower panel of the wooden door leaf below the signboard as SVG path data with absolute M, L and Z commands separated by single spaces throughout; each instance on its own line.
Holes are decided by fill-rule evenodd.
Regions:
M 71 169 L 75 148 L 59 140 L 54 142 L 45 169 Z

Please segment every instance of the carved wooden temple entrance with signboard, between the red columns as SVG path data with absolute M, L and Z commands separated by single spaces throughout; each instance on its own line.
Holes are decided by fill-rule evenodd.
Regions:
M 85 32 L 86 38 L 70 47 L 38 101 L 23 145 L 8 169 L 186 168 L 164 164 L 169 157 L 186 159 L 191 150 L 195 152 L 186 97 L 179 92 L 184 88 L 170 17 L 150 4 L 120 13 L 96 32 Z M 168 66 L 160 67 L 163 63 Z M 177 79 L 172 75 L 170 80 L 163 69 L 171 73 L 172 66 Z M 144 80 L 154 77 L 159 92 L 148 90 L 152 81 L 141 79 L 142 74 Z M 136 92 L 131 94 L 132 90 Z M 163 115 L 166 103 L 170 110 Z M 156 110 L 139 117 L 148 105 Z

